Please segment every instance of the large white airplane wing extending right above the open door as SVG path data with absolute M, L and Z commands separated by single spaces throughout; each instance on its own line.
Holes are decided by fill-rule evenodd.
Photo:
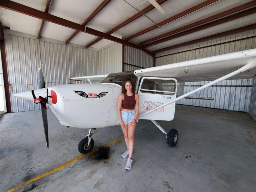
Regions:
M 202 59 L 138 69 L 134 74 L 138 77 L 168 77 L 178 82 L 196 82 L 216 80 L 244 66 L 247 60 L 256 58 L 256 49 L 217 55 Z M 249 79 L 256 74 L 256 67 L 242 72 L 229 79 Z

